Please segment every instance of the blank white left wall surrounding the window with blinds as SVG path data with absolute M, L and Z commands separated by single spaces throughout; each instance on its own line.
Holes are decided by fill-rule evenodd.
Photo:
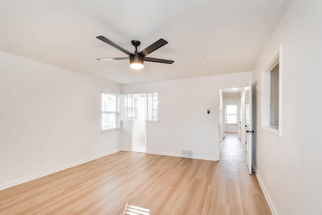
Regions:
M 120 150 L 120 132 L 100 133 L 101 91 L 119 85 L 2 51 L 0 63 L 0 189 Z

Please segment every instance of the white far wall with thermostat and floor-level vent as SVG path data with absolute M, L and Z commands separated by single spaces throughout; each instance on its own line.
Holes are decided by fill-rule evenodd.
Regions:
M 219 89 L 247 86 L 252 73 L 121 86 L 122 94 L 158 92 L 158 120 L 146 124 L 146 152 L 218 160 Z M 210 109 L 210 114 L 207 114 Z

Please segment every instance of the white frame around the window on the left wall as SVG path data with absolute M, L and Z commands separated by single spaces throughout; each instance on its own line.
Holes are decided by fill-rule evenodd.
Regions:
M 103 94 L 105 95 L 111 95 L 111 96 L 115 96 L 116 98 L 116 102 L 115 102 L 115 110 L 116 111 L 103 111 L 102 109 L 102 105 L 103 105 Z M 105 102 L 106 104 L 106 102 Z M 113 128 L 108 128 L 108 129 L 103 129 L 103 114 L 104 113 L 112 113 L 112 114 L 116 114 L 115 116 L 115 127 Z M 101 133 L 106 133 L 109 131 L 113 131 L 113 130 L 119 130 L 120 129 L 120 96 L 114 93 L 109 93 L 109 92 L 105 92 L 102 91 L 101 92 Z

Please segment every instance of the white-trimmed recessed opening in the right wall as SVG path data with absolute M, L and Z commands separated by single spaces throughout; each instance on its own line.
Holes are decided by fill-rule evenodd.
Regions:
M 277 54 L 262 75 L 262 129 L 279 136 L 281 135 L 280 83 L 280 54 Z

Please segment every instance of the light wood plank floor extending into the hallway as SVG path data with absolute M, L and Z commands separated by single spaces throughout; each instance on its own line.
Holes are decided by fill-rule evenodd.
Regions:
M 0 214 L 271 214 L 236 135 L 221 161 L 119 152 L 0 191 Z

